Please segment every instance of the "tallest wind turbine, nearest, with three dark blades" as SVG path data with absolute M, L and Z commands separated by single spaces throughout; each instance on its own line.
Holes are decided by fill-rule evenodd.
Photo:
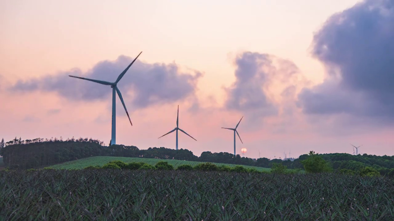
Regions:
M 140 53 L 138 54 L 138 56 L 139 56 L 141 53 L 142 53 L 142 52 L 140 52 Z M 118 78 L 117 78 L 116 81 L 113 82 L 113 83 L 108 82 L 108 81 L 99 81 L 99 80 L 95 80 L 95 79 L 89 79 L 89 78 L 85 78 L 85 77 L 76 77 L 76 76 L 71 76 L 71 75 L 69 75 L 70 77 L 76 77 L 76 78 L 83 79 L 83 80 L 87 80 L 87 81 L 93 81 L 93 82 L 95 82 L 95 83 L 99 83 L 99 84 L 102 84 L 102 85 L 111 85 L 111 88 L 112 88 L 112 131 L 111 131 L 111 144 L 110 144 L 110 145 L 116 144 L 116 133 L 115 133 L 115 132 L 116 132 L 116 113 L 115 113 L 115 110 L 116 110 L 116 108 L 115 108 L 115 104 L 116 104 L 116 102 L 115 102 L 116 93 L 118 94 L 119 99 L 121 100 L 122 105 L 123 105 L 123 107 L 125 108 L 125 111 L 126 111 L 128 120 L 130 121 L 130 124 L 133 125 L 133 124 L 131 123 L 130 116 L 128 115 L 128 112 L 127 112 L 127 109 L 126 109 L 125 102 L 123 102 L 123 98 L 122 98 L 121 91 L 120 91 L 119 88 L 117 87 L 117 83 L 118 83 L 118 82 L 122 79 L 122 77 L 126 74 L 127 70 L 128 70 L 128 69 L 130 68 L 130 66 L 134 63 L 134 61 L 137 60 L 138 56 L 132 61 L 132 63 L 130 63 L 130 64 L 127 66 L 127 68 L 126 68 L 121 74 L 119 74 Z

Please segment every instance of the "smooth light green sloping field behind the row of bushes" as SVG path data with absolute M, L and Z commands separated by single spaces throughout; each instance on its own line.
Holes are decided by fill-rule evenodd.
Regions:
M 82 169 L 87 166 L 102 166 L 112 160 L 121 160 L 125 163 L 130 163 L 130 162 L 145 162 L 147 164 L 154 165 L 159 161 L 165 161 L 168 162 L 168 164 L 171 164 L 174 166 L 174 168 L 177 168 L 180 165 L 188 164 L 191 166 L 195 166 L 199 163 L 202 162 L 195 162 L 195 161 L 186 161 L 186 160 L 162 160 L 162 159 L 153 159 L 153 158 L 137 158 L 137 157 L 88 157 L 88 158 L 83 158 L 80 160 L 73 160 L 69 162 L 65 162 L 62 164 L 56 164 L 49 166 L 50 168 L 53 169 Z M 227 165 L 230 167 L 237 166 L 235 164 L 219 164 L 219 163 L 214 163 L 217 166 L 221 165 Z M 245 168 L 255 168 L 258 171 L 269 171 L 271 169 L 269 168 L 263 168 L 263 167 L 257 167 L 257 166 L 244 166 Z

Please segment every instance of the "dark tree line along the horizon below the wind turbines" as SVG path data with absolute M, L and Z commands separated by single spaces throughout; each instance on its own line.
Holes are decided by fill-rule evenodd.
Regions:
M 271 168 L 273 163 L 282 164 L 288 169 L 304 169 L 302 160 L 308 158 L 308 153 L 299 156 L 293 161 L 281 159 L 268 159 L 266 157 L 253 160 L 252 158 L 234 156 L 231 153 L 212 153 L 204 151 L 199 157 L 187 149 L 169 149 L 165 147 L 149 147 L 138 149 L 136 146 L 111 145 L 105 146 L 104 142 L 92 138 L 35 138 L 22 140 L 15 137 L 14 140 L 0 142 L 0 155 L 3 157 L 5 166 L 10 168 L 30 169 L 41 168 L 48 165 L 59 164 L 71 160 L 92 156 L 113 157 L 141 157 L 156 159 L 190 160 L 197 162 L 214 162 L 225 164 L 238 164 L 245 166 L 258 166 Z M 348 153 L 318 154 L 333 168 L 333 171 L 359 171 L 365 167 L 371 167 L 379 171 L 381 175 L 387 175 L 394 168 L 394 156 L 376 155 L 351 155 Z

